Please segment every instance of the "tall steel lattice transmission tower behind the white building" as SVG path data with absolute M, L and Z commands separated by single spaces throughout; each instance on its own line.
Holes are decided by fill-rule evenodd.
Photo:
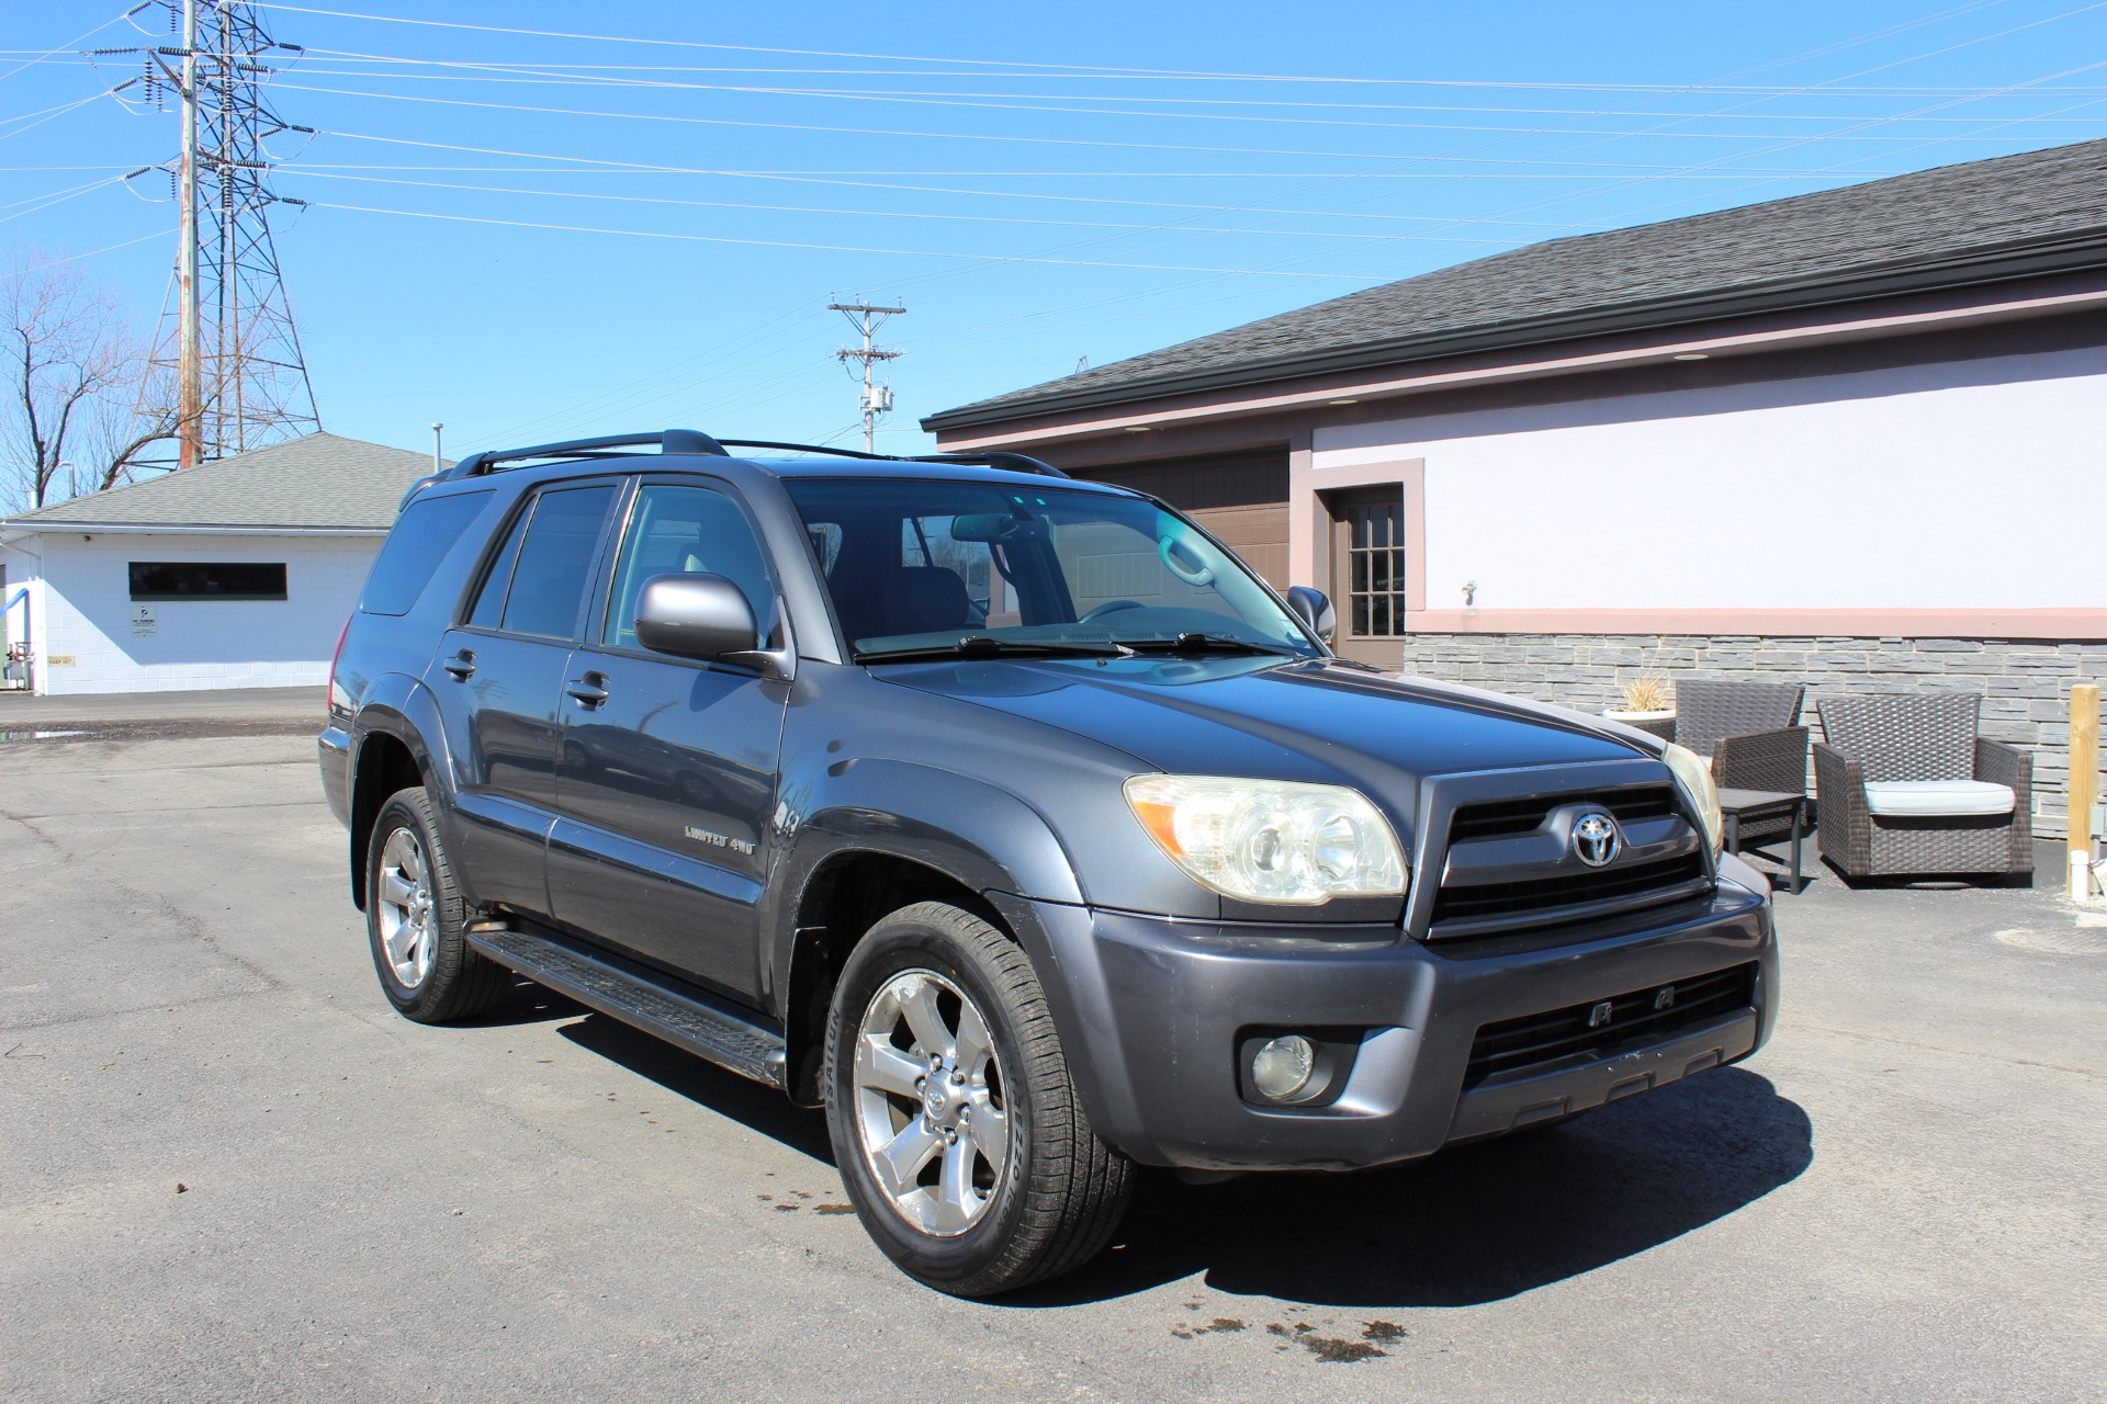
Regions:
M 272 40 L 251 4 L 150 0 L 145 8 L 166 13 L 175 42 L 95 53 L 143 55 L 145 97 L 162 109 L 181 105 L 181 154 L 133 175 L 166 171 L 181 210 L 141 415 L 169 425 L 173 467 L 194 467 L 322 427 L 270 232 L 272 204 L 306 202 L 272 194 L 263 149 L 278 133 L 312 128 L 263 101 L 265 59 L 301 51 Z

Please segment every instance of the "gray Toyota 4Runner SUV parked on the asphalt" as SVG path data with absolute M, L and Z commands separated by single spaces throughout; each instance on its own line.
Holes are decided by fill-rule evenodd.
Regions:
M 485 453 L 405 499 L 322 785 L 402 1015 L 518 972 L 824 1107 L 872 1240 L 986 1297 L 1136 1166 L 1395 1164 L 1768 1036 L 1700 758 L 1330 631 L 1018 455 Z

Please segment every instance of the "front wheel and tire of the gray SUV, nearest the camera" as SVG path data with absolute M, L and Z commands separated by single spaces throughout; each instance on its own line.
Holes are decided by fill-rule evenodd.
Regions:
M 995 1297 L 1075 1271 L 1127 1208 L 1134 1162 L 1083 1118 L 1030 960 L 959 907 L 902 907 L 849 954 L 824 1086 L 864 1229 L 940 1292 Z

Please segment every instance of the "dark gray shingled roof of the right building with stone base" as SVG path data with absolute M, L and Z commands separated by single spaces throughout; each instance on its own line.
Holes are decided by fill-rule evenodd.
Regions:
M 923 419 L 1169 394 L 2107 265 L 2107 141 L 1496 253 Z

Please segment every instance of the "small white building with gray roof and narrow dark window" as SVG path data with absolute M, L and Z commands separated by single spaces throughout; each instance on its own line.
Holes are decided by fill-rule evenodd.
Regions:
M 335 434 L 0 520 L 36 693 L 314 686 L 432 459 Z

